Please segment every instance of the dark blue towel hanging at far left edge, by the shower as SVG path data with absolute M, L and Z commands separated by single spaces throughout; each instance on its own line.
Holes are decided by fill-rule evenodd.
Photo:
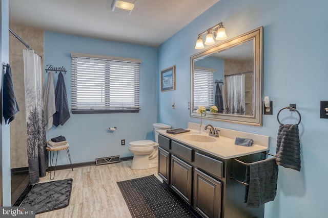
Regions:
M 9 64 L 6 66 L 6 74 L 4 75 L 3 84 L 3 116 L 5 118 L 5 123 L 9 124 L 12 120 L 14 120 L 15 114 L 19 111 Z

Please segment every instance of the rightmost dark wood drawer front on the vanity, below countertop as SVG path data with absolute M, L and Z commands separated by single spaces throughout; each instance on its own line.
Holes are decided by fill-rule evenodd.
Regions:
M 213 174 L 214 176 L 223 177 L 223 162 L 208 157 L 206 155 L 197 153 L 195 154 L 195 166 L 203 169 L 204 171 Z

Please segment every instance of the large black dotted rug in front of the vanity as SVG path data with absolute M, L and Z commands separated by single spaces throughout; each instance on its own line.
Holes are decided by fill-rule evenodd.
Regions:
M 196 217 L 154 175 L 117 182 L 133 218 Z

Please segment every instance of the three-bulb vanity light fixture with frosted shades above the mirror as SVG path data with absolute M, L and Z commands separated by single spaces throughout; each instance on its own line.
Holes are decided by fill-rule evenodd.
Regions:
M 215 25 L 215 26 L 209 28 L 208 30 L 198 34 L 195 49 L 203 49 L 204 48 L 204 44 L 203 44 L 203 40 L 201 39 L 201 36 L 205 33 L 207 33 L 206 34 L 205 44 L 206 45 L 211 45 L 211 44 L 215 43 L 212 31 L 214 32 L 214 35 L 216 36 L 215 37 L 216 40 L 224 40 L 224 39 L 228 38 L 227 34 L 226 34 L 226 29 L 224 29 L 224 26 L 223 26 L 223 22 L 219 22 L 217 25 Z

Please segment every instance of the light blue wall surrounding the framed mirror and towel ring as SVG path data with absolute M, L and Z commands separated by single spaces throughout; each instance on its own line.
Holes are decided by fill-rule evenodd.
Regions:
M 290 103 L 297 104 L 302 115 L 301 172 L 279 166 L 277 196 L 265 204 L 265 218 L 326 216 L 328 119 L 319 118 L 319 107 L 320 101 L 328 100 L 327 9 L 325 0 L 220 0 L 158 48 L 158 71 L 176 65 L 176 90 L 158 91 L 157 121 L 186 128 L 187 122 L 199 122 L 189 117 L 188 110 L 189 58 L 199 52 L 194 49 L 197 35 L 220 21 L 228 39 L 263 26 L 263 96 L 273 101 L 273 115 L 263 116 L 262 127 L 203 123 L 268 135 L 270 152 L 275 153 L 277 113 Z M 281 121 L 291 117 L 283 119 L 285 123 L 297 122 L 296 113 L 280 115 Z

